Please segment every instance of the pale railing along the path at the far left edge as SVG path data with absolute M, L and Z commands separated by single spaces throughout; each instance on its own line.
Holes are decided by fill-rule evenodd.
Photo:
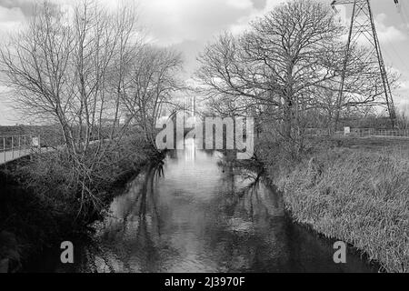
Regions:
M 27 156 L 40 146 L 39 136 L 0 135 L 0 164 Z

